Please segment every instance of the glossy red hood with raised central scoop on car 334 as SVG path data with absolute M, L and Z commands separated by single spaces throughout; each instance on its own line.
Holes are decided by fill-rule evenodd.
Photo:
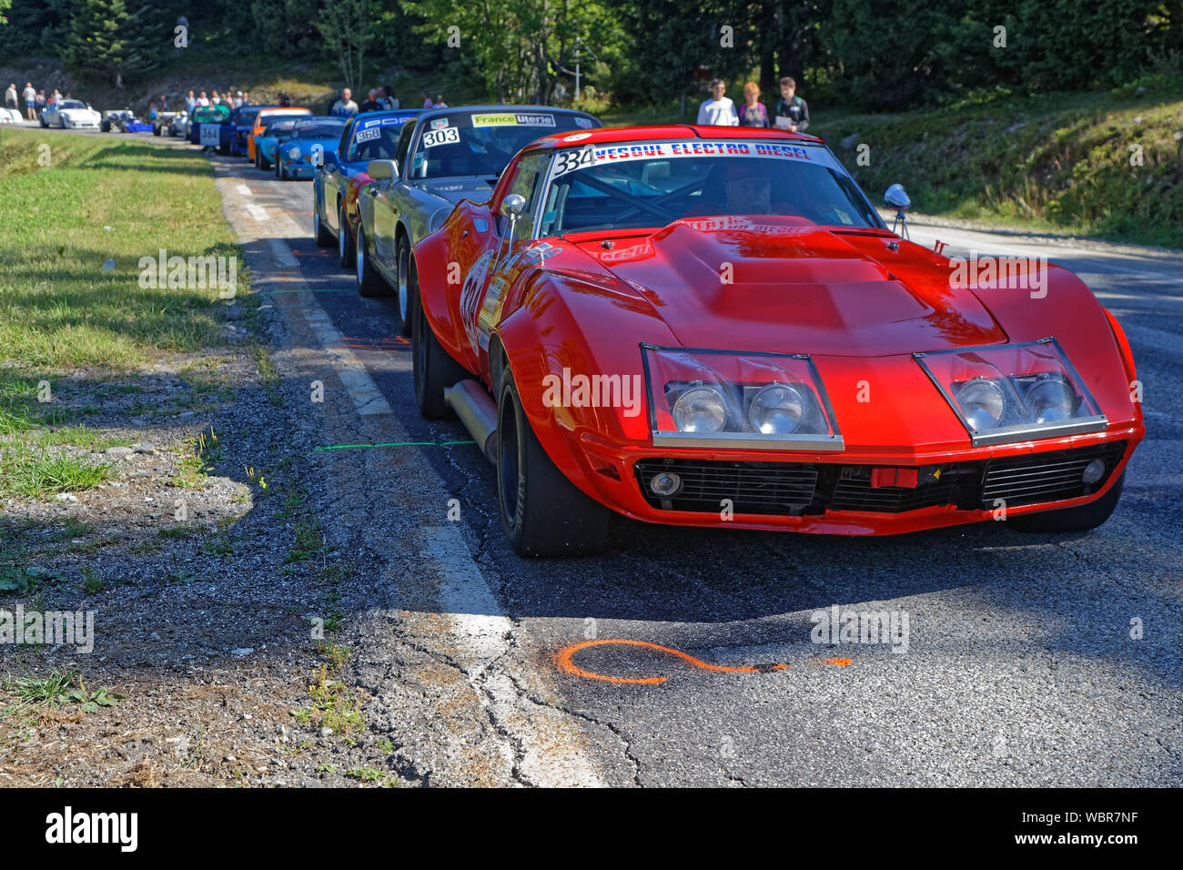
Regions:
M 1007 341 L 971 292 L 949 286 L 943 260 L 907 243 L 888 258 L 890 240 L 803 218 L 687 218 L 639 244 L 584 250 L 683 347 L 883 356 Z

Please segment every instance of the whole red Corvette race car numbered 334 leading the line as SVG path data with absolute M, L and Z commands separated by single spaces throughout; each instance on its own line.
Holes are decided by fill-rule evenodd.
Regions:
M 640 127 L 522 150 L 414 249 L 414 384 L 497 465 L 523 555 L 609 513 L 892 534 L 1103 523 L 1143 438 L 1073 273 L 891 232 L 826 146 Z

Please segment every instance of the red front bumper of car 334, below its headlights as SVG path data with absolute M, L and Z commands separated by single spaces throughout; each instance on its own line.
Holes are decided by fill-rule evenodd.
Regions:
M 634 520 L 671 526 L 890 535 L 1100 498 L 1125 470 L 1143 427 L 933 455 L 670 451 L 583 434 L 589 495 Z M 574 451 L 573 451 L 574 452 Z M 1093 459 L 1104 476 L 1082 482 Z M 681 489 L 648 486 L 660 471 Z M 901 483 L 903 485 L 894 485 Z

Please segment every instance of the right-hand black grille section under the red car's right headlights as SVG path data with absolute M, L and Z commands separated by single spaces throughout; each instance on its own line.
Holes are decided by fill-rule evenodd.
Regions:
M 1008 507 L 1036 502 L 1062 502 L 1094 492 L 1125 453 L 1125 442 L 1092 447 L 1058 450 L 1023 457 L 990 459 L 982 481 L 982 507 L 993 508 L 997 498 Z M 1093 484 L 1080 479 L 1093 459 L 1105 462 L 1105 473 Z

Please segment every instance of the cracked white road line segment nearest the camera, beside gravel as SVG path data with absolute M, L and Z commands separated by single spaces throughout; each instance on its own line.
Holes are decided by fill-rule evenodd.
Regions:
M 504 671 L 489 670 L 510 651 L 513 623 L 485 584 L 464 535 L 455 526 L 424 528 L 421 534 L 426 542 L 422 554 L 438 572 L 439 600 L 450 633 L 467 659 L 458 664 L 481 698 L 489 698 L 494 721 L 516 739 L 523 776 L 544 787 L 602 786 L 564 716 L 523 698 Z

